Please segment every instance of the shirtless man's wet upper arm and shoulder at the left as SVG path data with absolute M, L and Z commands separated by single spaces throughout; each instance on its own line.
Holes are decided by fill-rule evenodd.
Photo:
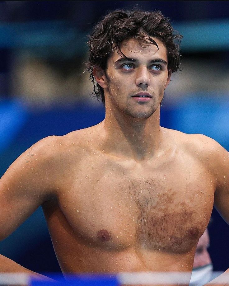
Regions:
M 0 239 L 13 232 L 52 194 L 52 140 L 47 137 L 34 144 L 0 179 Z

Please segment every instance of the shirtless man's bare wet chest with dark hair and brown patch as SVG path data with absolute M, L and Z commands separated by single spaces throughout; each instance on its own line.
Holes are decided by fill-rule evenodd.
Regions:
M 88 246 L 185 253 L 198 242 L 213 207 L 208 176 L 84 174 L 60 198 L 77 239 Z

